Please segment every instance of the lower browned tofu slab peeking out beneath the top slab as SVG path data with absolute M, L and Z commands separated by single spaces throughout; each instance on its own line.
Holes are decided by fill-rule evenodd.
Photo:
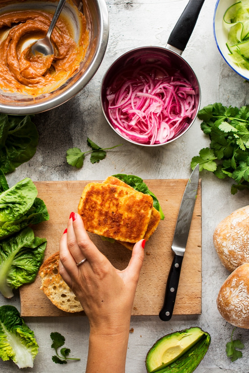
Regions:
M 119 185 L 119 186 L 124 186 L 125 188 L 133 189 L 130 185 L 126 184 L 125 182 L 119 180 L 118 178 L 115 178 L 115 176 L 108 176 L 103 183 L 105 184 L 112 184 L 112 185 Z M 160 222 L 161 216 L 158 210 L 153 207 L 152 213 L 150 216 L 150 221 L 147 227 L 147 230 L 144 235 L 144 239 L 148 241 L 149 237 L 155 232 L 156 228 L 158 227 L 158 224 Z M 118 241 L 120 244 L 124 245 L 127 249 L 133 250 L 134 244 L 130 242 L 122 242 Z

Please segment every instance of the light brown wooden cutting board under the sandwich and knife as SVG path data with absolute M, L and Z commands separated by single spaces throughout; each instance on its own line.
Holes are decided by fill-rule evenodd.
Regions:
M 133 304 L 133 315 L 158 315 L 164 300 L 166 280 L 173 253 L 171 244 L 178 211 L 188 180 L 145 180 L 153 191 L 165 214 L 156 232 L 145 245 L 145 257 Z M 46 203 L 50 220 L 32 226 L 35 236 L 47 238 L 45 259 L 59 250 L 59 239 L 65 230 L 71 211 L 77 212 L 84 186 L 91 181 L 41 181 L 35 182 L 38 197 Z M 91 234 L 90 238 L 113 266 L 122 270 L 131 251 L 122 245 L 102 241 Z M 190 226 L 186 253 L 174 308 L 176 315 L 201 313 L 201 182 L 199 181 L 193 219 Z M 21 316 L 77 316 L 59 310 L 40 290 L 41 279 L 20 288 Z

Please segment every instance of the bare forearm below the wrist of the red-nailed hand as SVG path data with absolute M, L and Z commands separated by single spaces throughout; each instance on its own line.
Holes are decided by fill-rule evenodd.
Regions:
M 128 338 L 129 325 L 108 335 L 90 332 L 85 373 L 125 373 Z

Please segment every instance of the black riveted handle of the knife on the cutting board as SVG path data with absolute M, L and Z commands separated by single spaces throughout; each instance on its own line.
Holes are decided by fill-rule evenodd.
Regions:
M 162 309 L 159 312 L 159 317 L 162 321 L 169 321 L 172 317 L 182 263 L 183 256 L 175 254 L 167 280 L 164 305 L 162 306 Z

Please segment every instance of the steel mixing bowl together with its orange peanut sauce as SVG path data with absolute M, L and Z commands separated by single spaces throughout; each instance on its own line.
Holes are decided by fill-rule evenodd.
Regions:
M 0 0 L 0 113 L 53 109 L 78 94 L 97 72 L 109 35 L 105 0 L 67 0 L 52 32 L 54 54 L 32 54 L 57 4 Z

